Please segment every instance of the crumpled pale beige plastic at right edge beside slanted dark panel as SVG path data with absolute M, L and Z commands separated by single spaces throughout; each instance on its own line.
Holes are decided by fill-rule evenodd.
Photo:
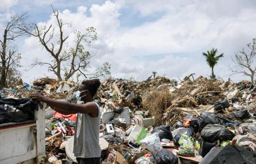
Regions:
M 240 146 L 244 149 L 248 149 L 249 151 L 252 151 L 254 153 L 256 153 L 256 136 L 251 134 L 251 133 L 247 133 L 246 135 L 237 135 L 237 142 L 236 145 Z

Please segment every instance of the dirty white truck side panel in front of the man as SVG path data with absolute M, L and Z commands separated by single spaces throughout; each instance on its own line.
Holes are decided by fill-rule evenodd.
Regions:
M 35 123 L 0 130 L 0 164 L 40 163 L 45 155 L 45 104 Z

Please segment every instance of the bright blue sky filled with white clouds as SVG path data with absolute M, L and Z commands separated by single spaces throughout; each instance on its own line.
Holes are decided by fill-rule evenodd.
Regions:
M 59 9 L 65 36 L 72 44 L 74 30 L 97 29 L 98 40 L 86 47 L 97 55 L 91 71 L 111 64 L 115 78 L 134 77 L 143 80 L 152 71 L 170 78 L 184 78 L 195 73 L 208 77 L 211 73 L 202 52 L 215 47 L 224 58 L 214 68 L 223 79 L 230 77 L 227 66 L 231 56 L 256 38 L 255 0 L 0 0 L 0 36 L 11 13 L 28 11 L 40 26 L 56 26 L 50 4 Z M 2 36 L 1 36 L 2 37 Z M 16 40 L 22 53 L 23 80 L 54 75 L 46 67 L 28 69 L 38 58 L 51 58 L 38 43 L 38 38 Z M 245 79 L 232 75 L 233 81 Z

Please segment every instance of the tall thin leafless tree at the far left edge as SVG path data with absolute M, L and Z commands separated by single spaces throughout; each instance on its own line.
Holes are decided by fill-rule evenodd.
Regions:
M 33 23 L 29 22 L 28 12 L 23 12 L 21 14 L 11 15 L 10 20 L 4 29 L 3 38 L 0 39 L 0 56 L 1 56 L 1 78 L 0 78 L 0 88 L 7 85 L 7 78 L 13 77 L 17 74 L 16 66 L 19 66 L 20 54 L 18 49 L 14 44 L 16 38 L 20 36 L 29 36 L 27 32 L 30 32 Z M 23 28 L 24 30 L 21 30 Z M 19 74 L 19 73 L 18 73 Z

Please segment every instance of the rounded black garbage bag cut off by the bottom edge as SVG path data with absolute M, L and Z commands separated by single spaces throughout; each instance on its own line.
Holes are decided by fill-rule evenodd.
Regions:
M 162 149 L 155 155 L 155 164 L 178 164 L 178 157 L 167 149 Z

